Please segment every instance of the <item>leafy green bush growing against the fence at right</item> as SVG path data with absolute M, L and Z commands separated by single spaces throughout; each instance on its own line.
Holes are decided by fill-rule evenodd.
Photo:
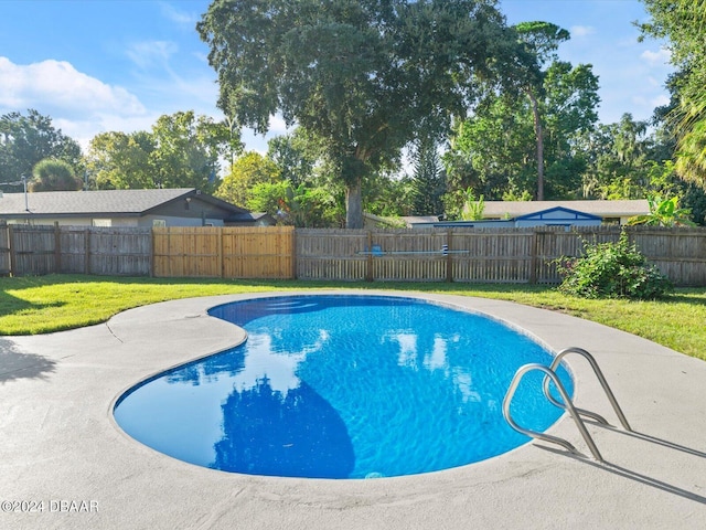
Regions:
M 617 243 L 584 242 L 584 256 L 557 261 L 559 290 L 582 298 L 654 299 L 672 292 L 670 280 L 631 245 L 622 232 Z

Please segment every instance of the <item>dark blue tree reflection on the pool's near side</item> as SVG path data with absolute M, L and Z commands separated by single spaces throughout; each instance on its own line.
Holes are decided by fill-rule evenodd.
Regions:
M 264 378 L 237 389 L 223 409 L 224 436 L 213 467 L 225 471 L 346 478 L 355 455 L 345 424 L 317 392 L 301 383 L 286 393 Z

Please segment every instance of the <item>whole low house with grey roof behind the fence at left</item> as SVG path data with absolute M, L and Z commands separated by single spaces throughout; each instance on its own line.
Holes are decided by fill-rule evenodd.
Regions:
M 0 220 L 76 226 L 267 225 L 271 218 L 193 188 L 4 193 Z

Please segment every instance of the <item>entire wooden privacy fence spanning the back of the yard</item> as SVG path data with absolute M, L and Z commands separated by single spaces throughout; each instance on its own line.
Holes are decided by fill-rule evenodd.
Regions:
M 676 285 L 706 286 L 706 229 L 625 229 Z M 619 226 L 429 230 L 0 226 L 0 272 L 553 284 L 556 259 Z

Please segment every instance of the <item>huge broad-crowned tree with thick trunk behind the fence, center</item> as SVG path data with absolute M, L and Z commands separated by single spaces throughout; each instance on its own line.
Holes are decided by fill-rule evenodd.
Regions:
M 365 180 L 464 115 L 479 80 L 516 57 L 486 0 L 215 0 L 197 30 L 226 116 L 265 132 L 281 113 L 319 137 L 349 227 L 362 227 Z

